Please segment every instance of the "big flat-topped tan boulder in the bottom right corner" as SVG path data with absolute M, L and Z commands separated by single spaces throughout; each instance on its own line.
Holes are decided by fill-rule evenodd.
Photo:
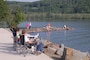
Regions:
M 89 56 L 87 52 L 67 48 L 65 60 L 89 60 Z

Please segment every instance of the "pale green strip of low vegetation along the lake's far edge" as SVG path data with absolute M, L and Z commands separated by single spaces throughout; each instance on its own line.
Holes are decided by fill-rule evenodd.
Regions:
M 28 16 L 26 18 L 26 20 L 28 21 L 89 21 L 90 20 L 90 14 L 51 13 L 51 17 L 47 17 L 46 13 L 43 13 L 43 14 L 31 13 L 26 15 Z

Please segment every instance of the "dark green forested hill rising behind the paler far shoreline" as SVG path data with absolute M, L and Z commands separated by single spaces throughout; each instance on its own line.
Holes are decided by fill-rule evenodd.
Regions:
M 40 0 L 36 2 L 7 2 L 11 9 L 19 7 L 25 13 L 90 13 L 90 0 Z

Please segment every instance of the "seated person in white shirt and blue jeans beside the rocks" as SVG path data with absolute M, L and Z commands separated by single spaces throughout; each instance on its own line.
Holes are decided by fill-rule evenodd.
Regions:
M 30 37 L 25 30 L 22 30 L 22 35 L 24 36 L 25 43 L 30 44 L 30 46 L 36 45 L 36 51 L 37 53 L 41 53 L 43 51 L 43 44 L 41 41 L 37 44 L 37 42 L 31 41 L 28 37 Z M 37 34 L 34 37 L 37 37 L 39 34 Z

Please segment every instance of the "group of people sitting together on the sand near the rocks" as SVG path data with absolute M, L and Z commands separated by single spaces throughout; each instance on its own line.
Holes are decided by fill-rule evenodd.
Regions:
M 41 52 L 43 52 L 43 43 L 42 41 L 31 41 L 30 37 L 34 37 L 37 38 L 39 36 L 39 34 L 37 35 L 30 35 L 27 33 L 26 30 L 22 30 L 22 33 L 19 33 L 19 29 L 17 27 L 12 27 L 10 29 L 12 31 L 13 34 L 13 42 L 15 43 L 19 43 L 24 45 L 25 43 L 27 43 L 29 45 L 29 47 L 36 47 L 36 50 L 34 52 L 36 52 L 37 54 L 41 54 Z

